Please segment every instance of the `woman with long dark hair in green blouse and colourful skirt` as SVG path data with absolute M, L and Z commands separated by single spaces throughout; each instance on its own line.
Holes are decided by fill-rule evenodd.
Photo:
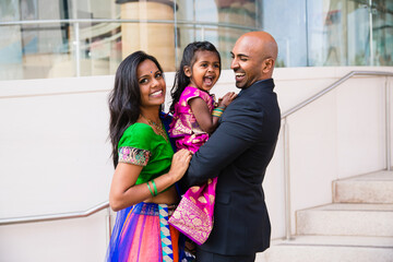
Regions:
M 157 60 L 136 51 L 119 66 L 109 96 L 114 165 L 109 203 L 117 211 L 107 261 L 182 260 L 179 231 L 168 226 L 178 203 L 174 183 L 191 154 L 174 155 L 164 129 L 165 80 Z

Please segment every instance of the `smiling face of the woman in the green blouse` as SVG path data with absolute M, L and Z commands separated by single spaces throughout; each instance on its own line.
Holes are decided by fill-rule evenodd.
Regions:
M 138 83 L 142 107 L 164 104 L 166 90 L 164 75 L 152 60 L 146 59 L 138 67 Z

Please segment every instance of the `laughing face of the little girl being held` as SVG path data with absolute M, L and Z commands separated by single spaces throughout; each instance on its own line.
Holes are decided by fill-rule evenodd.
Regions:
M 196 51 L 192 68 L 184 67 L 184 73 L 190 78 L 190 85 L 203 91 L 210 91 L 219 78 L 219 58 L 213 51 Z

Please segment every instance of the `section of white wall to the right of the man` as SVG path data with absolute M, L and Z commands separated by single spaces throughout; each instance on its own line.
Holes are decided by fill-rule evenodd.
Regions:
M 275 79 L 282 111 L 355 70 L 393 72 L 392 68 L 277 70 Z M 294 234 L 294 212 L 331 203 L 333 180 L 385 168 L 384 92 L 386 85 L 392 90 L 392 78 L 355 76 L 288 117 Z M 278 146 L 264 182 L 274 224 L 273 238 L 284 234 L 283 205 L 275 201 L 283 198 L 283 184 L 274 177 L 282 177 L 284 172 L 283 145 Z

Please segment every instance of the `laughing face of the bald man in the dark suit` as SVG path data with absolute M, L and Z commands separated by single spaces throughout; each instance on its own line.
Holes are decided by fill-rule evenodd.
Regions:
M 230 68 L 235 72 L 238 88 L 247 88 L 263 79 L 262 46 L 255 38 L 240 38 L 230 53 L 233 58 Z

